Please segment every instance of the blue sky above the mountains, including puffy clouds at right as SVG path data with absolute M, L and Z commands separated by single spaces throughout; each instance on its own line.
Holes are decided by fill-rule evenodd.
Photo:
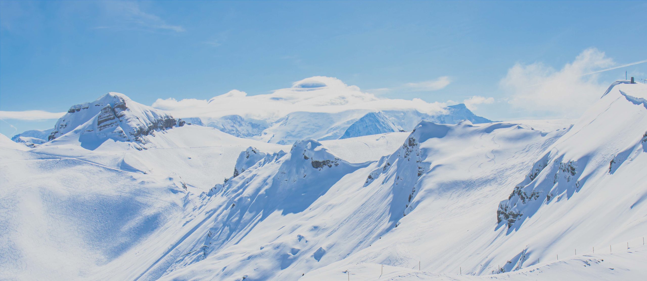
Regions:
M 577 117 L 591 102 L 578 89 L 598 95 L 625 71 L 647 78 L 647 63 L 615 68 L 647 59 L 646 1 L 0 5 L 5 135 L 56 122 L 16 111 L 67 111 L 106 92 L 151 105 L 325 75 L 385 98 L 472 101 L 507 120 Z

